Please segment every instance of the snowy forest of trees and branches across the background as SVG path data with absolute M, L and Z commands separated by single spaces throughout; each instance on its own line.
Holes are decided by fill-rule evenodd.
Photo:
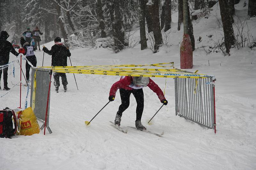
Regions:
M 242 0 L 241 0 L 242 1 Z M 188 25 L 192 48 L 195 50 L 195 38 L 191 20 L 207 18 L 211 8 L 218 0 L 188 0 Z M 255 46 L 249 32 L 245 32 L 246 22 L 234 20 L 235 8 L 239 0 L 219 0 L 224 41 L 216 42 L 216 46 L 225 55 L 232 46 Z M 244 2 L 248 6 L 248 17 L 256 15 L 256 2 Z M 157 52 L 164 44 L 165 35 L 172 28 L 172 13 L 178 12 L 178 27 L 183 22 L 182 0 L 1 0 L 0 30 L 12 35 L 19 43 L 22 32 L 39 27 L 44 32 L 43 42 L 47 43 L 55 37 L 64 38 L 66 46 L 95 47 L 97 39 L 107 38 L 104 46 L 111 47 L 116 53 L 123 48 L 141 44 L 141 50 L 147 48 L 150 39 L 151 49 Z M 246 20 L 245 20 L 246 21 Z M 145 22 L 147 23 L 145 27 Z M 238 28 L 234 33 L 232 24 Z M 140 40 L 134 42 L 134 27 L 140 26 Z M 244 31 L 244 32 L 243 32 Z M 126 33 L 125 33 L 126 32 Z M 127 33 L 128 32 L 128 33 Z M 244 36 L 244 33 L 247 38 Z M 147 35 L 147 36 L 146 36 Z M 249 37 L 248 37 L 249 36 Z M 146 38 L 148 37 L 148 38 Z M 166 37 L 166 36 L 165 36 Z M 200 41 L 200 38 L 199 38 Z M 100 44 L 102 46 L 102 43 Z

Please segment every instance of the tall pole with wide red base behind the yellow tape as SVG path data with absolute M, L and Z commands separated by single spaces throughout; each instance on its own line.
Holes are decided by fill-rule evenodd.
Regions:
M 180 68 L 186 69 L 193 67 L 193 50 L 188 34 L 188 0 L 183 0 L 183 24 L 184 34 L 180 45 Z

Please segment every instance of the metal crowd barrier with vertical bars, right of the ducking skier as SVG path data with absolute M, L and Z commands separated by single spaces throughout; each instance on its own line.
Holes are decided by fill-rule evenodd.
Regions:
M 216 133 L 214 93 L 211 77 L 175 78 L 176 115 L 207 128 L 214 128 Z

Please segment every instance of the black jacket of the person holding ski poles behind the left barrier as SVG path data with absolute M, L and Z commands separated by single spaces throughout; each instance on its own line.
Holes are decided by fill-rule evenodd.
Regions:
M 50 51 L 47 48 L 43 48 L 43 50 L 52 55 L 52 66 L 67 66 L 67 57 L 70 57 L 71 53 L 61 42 L 55 42 Z

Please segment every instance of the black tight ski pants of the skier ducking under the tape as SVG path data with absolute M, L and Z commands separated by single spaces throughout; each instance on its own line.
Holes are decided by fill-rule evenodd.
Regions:
M 142 112 L 144 109 L 144 93 L 142 89 L 133 89 L 133 90 L 125 90 L 119 89 L 122 104 L 119 106 L 119 110 L 117 112 L 118 115 L 122 116 L 124 110 L 126 110 L 130 105 L 130 96 L 133 94 L 135 97 L 137 107 L 136 107 L 136 120 L 141 120 Z

